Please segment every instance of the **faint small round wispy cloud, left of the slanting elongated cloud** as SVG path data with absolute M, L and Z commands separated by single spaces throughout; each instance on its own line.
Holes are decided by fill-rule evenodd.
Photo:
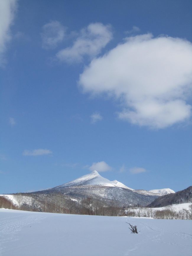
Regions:
M 58 43 L 64 39 L 66 27 L 57 20 L 51 21 L 42 27 L 41 33 L 42 47 L 45 49 L 54 49 Z

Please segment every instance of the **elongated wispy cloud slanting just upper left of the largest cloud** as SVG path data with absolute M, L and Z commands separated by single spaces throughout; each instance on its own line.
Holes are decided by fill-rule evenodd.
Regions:
M 91 23 L 81 30 L 73 46 L 59 51 L 56 56 L 60 61 L 68 63 L 82 62 L 86 55 L 92 58 L 99 54 L 112 37 L 110 25 Z

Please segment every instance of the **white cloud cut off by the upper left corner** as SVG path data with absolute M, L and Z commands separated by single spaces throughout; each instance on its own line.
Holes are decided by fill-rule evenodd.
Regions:
M 3 65 L 5 62 L 3 53 L 11 39 L 10 26 L 17 9 L 16 3 L 16 0 L 0 1 L 0 65 Z

